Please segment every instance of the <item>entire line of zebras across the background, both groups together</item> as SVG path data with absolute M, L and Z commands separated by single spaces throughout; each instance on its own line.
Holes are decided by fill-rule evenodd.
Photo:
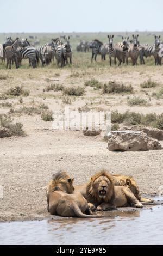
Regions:
M 123 38 L 122 41 L 114 44 L 114 35 L 108 35 L 108 43 L 95 39 L 91 42 L 80 41 L 77 45 L 78 52 L 89 52 L 92 50 L 91 62 L 97 58 L 100 54 L 102 60 L 106 60 L 106 55 L 109 56 L 110 66 L 112 65 L 112 58 L 116 65 L 118 60 L 118 66 L 121 63 L 128 64 L 128 59 L 131 59 L 133 66 L 137 65 L 137 60 L 140 58 L 140 63 L 145 64 L 145 57 L 154 57 L 155 65 L 161 65 L 163 57 L 163 43 L 160 41 L 161 36 L 154 36 L 155 41 L 153 45 L 140 44 L 139 35 L 133 35 L 132 40 Z M 63 41 L 64 40 L 64 41 Z M 0 59 L 2 63 L 7 60 L 6 68 L 11 69 L 11 64 L 15 63 L 16 68 L 20 68 L 22 65 L 22 59 L 29 59 L 29 65 L 36 68 L 41 61 L 42 66 L 49 65 L 54 62 L 54 58 L 57 60 L 57 65 L 63 67 L 68 64 L 72 64 L 72 46 L 70 44 L 70 36 L 61 36 L 61 38 L 52 39 L 50 43 L 35 48 L 30 45 L 29 41 L 20 40 L 16 38 L 12 40 L 11 37 L 7 38 L 7 41 L 3 45 L 0 44 Z

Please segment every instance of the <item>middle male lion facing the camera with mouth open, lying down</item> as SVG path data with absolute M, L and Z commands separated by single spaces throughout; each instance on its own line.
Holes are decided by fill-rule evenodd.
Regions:
M 105 211 L 124 206 L 143 207 L 128 187 L 114 186 L 112 175 L 106 170 L 95 174 L 89 183 L 77 186 L 75 190 L 83 194 L 93 211 Z

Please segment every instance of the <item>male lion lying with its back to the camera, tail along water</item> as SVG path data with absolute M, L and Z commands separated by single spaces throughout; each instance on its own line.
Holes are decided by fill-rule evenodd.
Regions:
M 86 199 L 74 192 L 73 180 L 66 172 L 53 174 L 47 186 L 48 212 L 62 217 L 101 218 L 92 214 Z

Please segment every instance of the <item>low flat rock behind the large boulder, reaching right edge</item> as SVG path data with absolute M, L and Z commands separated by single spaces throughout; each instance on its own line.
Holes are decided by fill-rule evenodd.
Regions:
M 136 125 L 124 126 L 121 130 L 142 131 L 147 133 L 147 135 L 151 138 L 158 139 L 158 141 L 163 141 L 163 130 L 159 130 L 157 128 Z

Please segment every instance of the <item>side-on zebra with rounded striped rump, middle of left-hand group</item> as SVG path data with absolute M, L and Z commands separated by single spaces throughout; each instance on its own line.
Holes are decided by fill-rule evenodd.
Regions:
M 29 59 L 30 66 L 33 66 L 33 68 L 37 67 L 37 64 L 36 64 L 37 54 L 36 54 L 36 49 L 33 46 L 28 45 L 24 47 L 17 47 L 16 58 L 17 58 L 18 67 L 21 66 L 22 59 Z

